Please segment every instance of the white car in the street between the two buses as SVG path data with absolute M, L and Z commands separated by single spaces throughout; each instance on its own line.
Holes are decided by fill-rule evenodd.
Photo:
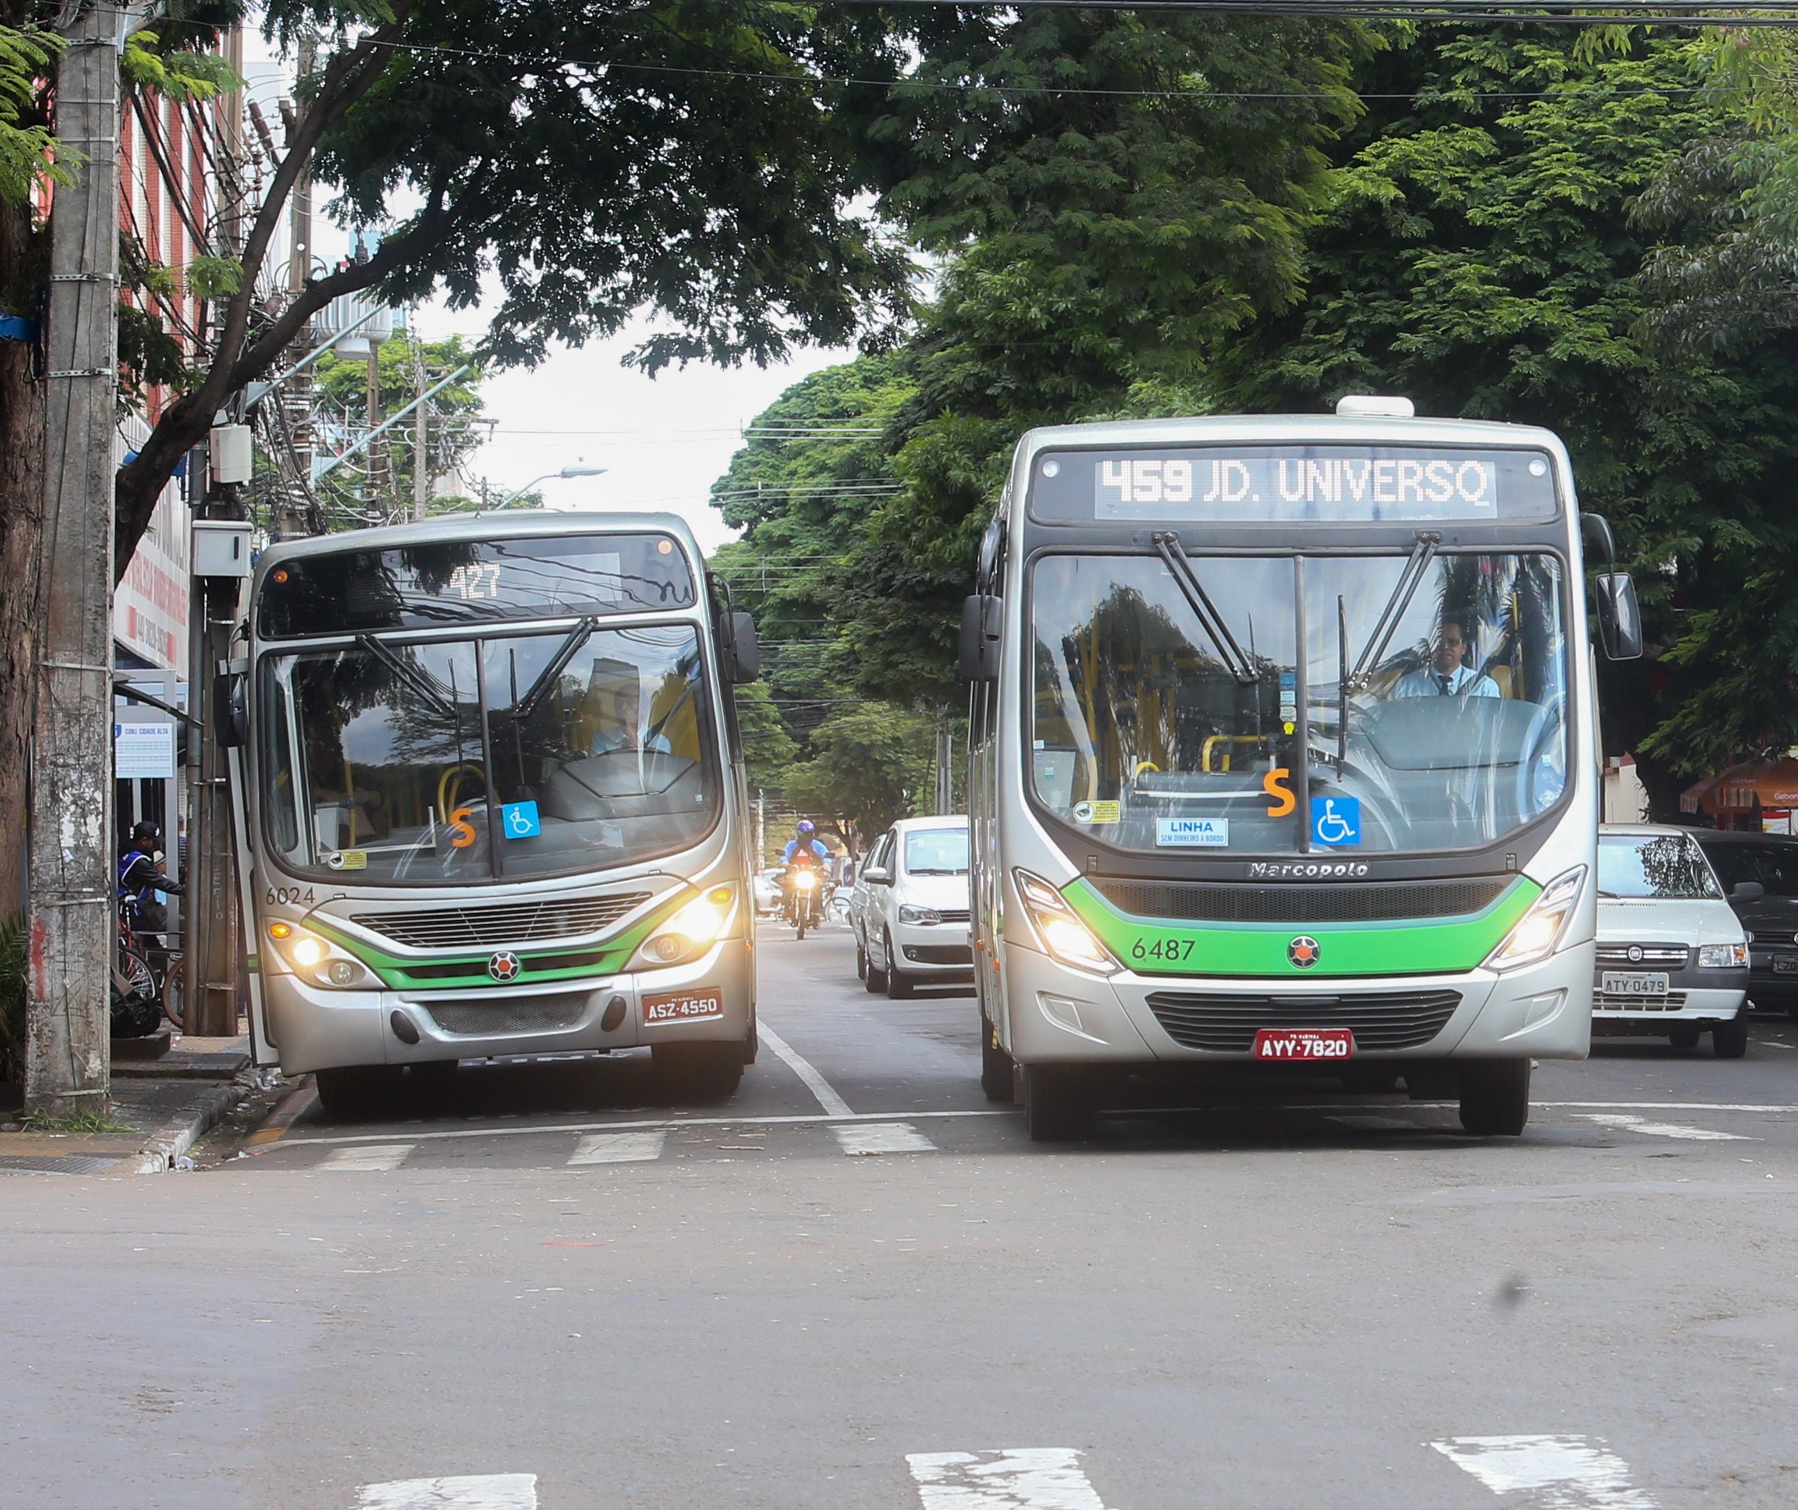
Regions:
M 971 982 L 967 818 L 904 818 L 881 843 L 885 852 L 876 847 L 861 868 L 865 985 L 901 998 L 921 985 Z

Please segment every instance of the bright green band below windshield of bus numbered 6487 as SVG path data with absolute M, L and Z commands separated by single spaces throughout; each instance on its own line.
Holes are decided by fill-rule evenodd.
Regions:
M 1471 917 L 1374 926 L 1140 919 L 1118 911 L 1084 877 L 1070 883 L 1063 895 L 1104 946 L 1138 974 L 1323 980 L 1476 969 L 1528 911 L 1530 902 L 1541 895 L 1541 886 L 1519 875 L 1485 911 Z M 1318 962 L 1309 969 L 1300 969 L 1287 958 L 1287 946 L 1300 937 L 1318 942 Z

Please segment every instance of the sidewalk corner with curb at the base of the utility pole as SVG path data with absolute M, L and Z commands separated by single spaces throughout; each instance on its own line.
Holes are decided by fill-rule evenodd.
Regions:
M 160 1174 L 255 1089 L 250 1041 L 173 1035 L 156 1059 L 119 1057 L 104 1132 L 27 1131 L 16 1100 L 0 1111 L 0 1176 Z

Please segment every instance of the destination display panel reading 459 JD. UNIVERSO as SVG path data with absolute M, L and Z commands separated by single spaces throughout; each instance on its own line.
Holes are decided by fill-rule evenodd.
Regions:
M 1041 520 L 1383 523 L 1546 520 L 1541 451 L 1422 446 L 1183 446 L 1048 451 L 1030 511 Z

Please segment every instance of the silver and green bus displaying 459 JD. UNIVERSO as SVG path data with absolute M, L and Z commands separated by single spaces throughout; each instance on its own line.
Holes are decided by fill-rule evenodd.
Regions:
M 1586 1055 L 1611 532 L 1550 431 L 1410 415 L 1019 442 L 962 671 L 982 1079 L 1034 1138 L 1144 1066 L 1521 1132 Z

